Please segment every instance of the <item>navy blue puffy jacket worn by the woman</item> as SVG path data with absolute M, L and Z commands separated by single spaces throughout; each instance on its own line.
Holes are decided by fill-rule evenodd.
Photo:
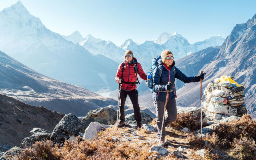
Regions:
M 157 66 L 154 69 L 153 78 L 152 78 L 152 80 L 153 80 L 153 89 L 154 89 L 154 92 L 152 94 L 152 98 L 155 98 L 157 100 L 165 101 L 166 100 L 167 92 L 164 92 L 164 91 L 166 91 L 164 89 L 164 86 L 166 84 L 168 84 L 168 82 L 171 82 L 172 83 L 173 91 L 169 92 L 168 100 L 174 99 L 176 97 L 176 95 L 175 95 L 175 85 L 174 85 L 175 78 L 178 78 L 179 80 L 181 80 L 181 81 L 183 81 L 185 83 L 199 82 L 200 81 L 200 78 L 198 78 L 198 77 L 187 77 L 185 74 L 183 74 L 178 68 L 176 68 L 174 66 L 175 65 L 174 61 L 172 63 L 172 67 L 171 67 L 170 70 L 168 70 L 162 64 L 162 60 L 161 59 L 158 60 L 158 64 L 159 64 L 159 66 L 162 67 L 162 74 L 161 74 L 161 77 L 160 77 L 159 66 Z M 175 71 L 176 71 L 175 76 L 174 76 L 174 68 L 173 67 L 175 67 Z

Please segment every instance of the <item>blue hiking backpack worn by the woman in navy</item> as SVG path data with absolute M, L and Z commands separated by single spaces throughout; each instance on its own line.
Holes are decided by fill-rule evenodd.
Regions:
M 148 80 L 146 81 L 146 84 L 147 86 L 149 87 L 150 91 L 153 93 L 154 92 L 154 89 L 153 89 L 153 80 L 152 80 L 152 77 L 153 77 L 153 72 L 154 72 L 154 69 L 158 66 L 158 70 L 159 70 L 159 74 L 160 74 L 160 77 L 162 75 L 162 67 L 159 66 L 158 64 L 158 60 L 161 60 L 161 56 L 156 56 L 155 58 L 153 58 L 152 62 L 151 62 L 151 69 L 150 69 L 150 76 L 148 74 Z M 174 71 L 174 75 L 175 75 L 175 67 L 173 67 L 173 71 Z

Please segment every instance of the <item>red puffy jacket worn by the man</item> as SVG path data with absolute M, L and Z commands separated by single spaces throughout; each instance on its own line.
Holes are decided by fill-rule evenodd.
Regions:
M 136 58 L 133 58 L 134 62 L 136 63 L 137 60 Z M 116 72 L 116 81 L 119 78 L 122 78 L 122 80 L 124 82 L 136 82 L 137 80 L 137 75 L 135 74 L 135 67 L 134 67 L 134 63 L 132 64 L 128 64 L 125 62 L 125 66 L 124 66 L 124 72 L 123 72 L 123 76 L 122 76 L 122 67 L 123 67 L 123 63 L 119 64 L 118 68 L 117 68 L 117 72 Z M 144 73 L 140 63 L 137 62 L 137 74 L 139 74 L 140 78 L 142 78 L 143 80 L 147 80 L 147 75 Z M 122 77 L 121 77 L 122 76 Z M 120 88 L 123 90 L 134 90 L 137 88 L 136 84 L 125 84 L 122 83 L 120 85 Z

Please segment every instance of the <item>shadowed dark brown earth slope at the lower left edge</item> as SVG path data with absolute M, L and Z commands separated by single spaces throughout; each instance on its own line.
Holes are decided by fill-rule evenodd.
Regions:
M 0 150 L 20 146 L 33 128 L 53 130 L 63 116 L 43 106 L 30 106 L 0 94 Z

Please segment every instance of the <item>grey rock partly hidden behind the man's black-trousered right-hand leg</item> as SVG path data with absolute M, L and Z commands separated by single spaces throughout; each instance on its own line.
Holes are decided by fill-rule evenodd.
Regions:
M 141 112 L 141 118 L 142 118 L 142 124 L 149 124 L 153 120 L 153 118 L 149 114 L 146 114 L 145 112 Z M 126 124 L 137 125 L 137 122 L 134 118 L 134 113 L 126 115 L 125 121 L 126 121 Z

